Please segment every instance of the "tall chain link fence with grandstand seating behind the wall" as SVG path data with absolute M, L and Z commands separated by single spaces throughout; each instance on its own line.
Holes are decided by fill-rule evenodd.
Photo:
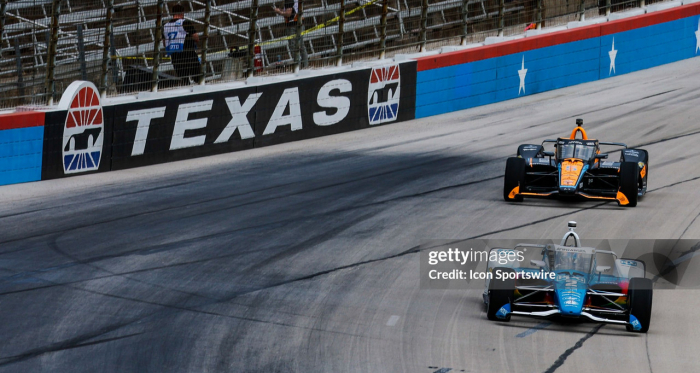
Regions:
M 0 109 L 242 81 L 522 34 L 654 0 L 0 0 Z M 293 10 L 292 10 L 293 9 Z

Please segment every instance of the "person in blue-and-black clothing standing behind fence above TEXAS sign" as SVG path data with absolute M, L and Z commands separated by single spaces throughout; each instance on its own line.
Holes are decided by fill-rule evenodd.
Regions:
M 202 67 L 197 55 L 199 35 L 192 21 L 185 19 L 185 7 L 175 4 L 173 19 L 163 25 L 163 46 L 183 84 L 198 83 Z

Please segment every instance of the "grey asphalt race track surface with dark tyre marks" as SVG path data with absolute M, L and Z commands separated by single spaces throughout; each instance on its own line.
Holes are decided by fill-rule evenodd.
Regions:
M 649 151 L 638 207 L 504 202 L 506 157 L 578 117 L 591 137 Z M 496 323 L 479 286 L 421 290 L 416 247 L 558 239 L 568 220 L 587 238 L 700 239 L 698 118 L 690 59 L 342 135 L 4 186 L 0 371 L 697 371 L 698 290 L 657 289 L 646 335 Z

